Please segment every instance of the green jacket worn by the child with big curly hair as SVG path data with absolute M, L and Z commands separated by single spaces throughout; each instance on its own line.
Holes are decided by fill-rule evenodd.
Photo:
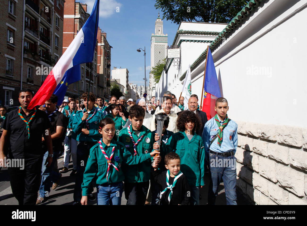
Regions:
M 185 132 L 174 133 L 167 144 L 162 142 L 161 158 L 169 152 L 176 152 L 180 157 L 180 170 L 187 177 L 190 186 L 203 186 L 205 151 L 204 143 L 199 135 L 194 133 L 189 141 Z

